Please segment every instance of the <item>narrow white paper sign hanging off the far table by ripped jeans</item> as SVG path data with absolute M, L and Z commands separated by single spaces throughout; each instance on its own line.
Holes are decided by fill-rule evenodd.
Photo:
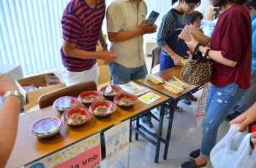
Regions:
M 198 103 L 197 113 L 195 117 L 204 116 L 206 113 L 206 105 L 207 105 L 207 98 L 208 98 L 210 85 L 211 85 L 210 82 L 208 82 L 203 87 L 203 92 Z

